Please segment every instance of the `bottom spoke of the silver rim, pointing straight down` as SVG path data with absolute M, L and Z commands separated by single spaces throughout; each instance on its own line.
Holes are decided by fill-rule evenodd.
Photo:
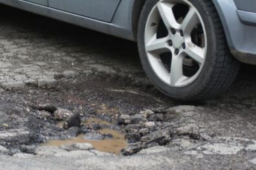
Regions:
M 183 56 L 172 56 L 170 85 L 177 85 L 183 79 Z

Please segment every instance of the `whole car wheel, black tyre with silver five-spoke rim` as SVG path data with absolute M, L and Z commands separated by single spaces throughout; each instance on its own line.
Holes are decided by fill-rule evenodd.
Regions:
M 150 80 L 177 100 L 212 98 L 239 71 L 211 0 L 147 0 L 138 45 Z

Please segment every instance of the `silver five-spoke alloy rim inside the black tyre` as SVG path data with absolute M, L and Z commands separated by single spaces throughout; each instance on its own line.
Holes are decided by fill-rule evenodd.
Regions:
M 180 16 L 183 7 L 188 11 Z M 202 17 L 189 1 L 160 0 L 145 28 L 145 50 L 156 76 L 171 87 L 185 87 L 196 80 L 207 53 L 205 34 Z

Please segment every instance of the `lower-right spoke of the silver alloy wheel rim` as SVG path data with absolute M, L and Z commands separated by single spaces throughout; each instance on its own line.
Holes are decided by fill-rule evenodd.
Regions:
M 199 65 L 204 62 L 205 48 L 198 47 L 197 45 L 192 45 L 185 49 L 185 54 L 194 59 Z

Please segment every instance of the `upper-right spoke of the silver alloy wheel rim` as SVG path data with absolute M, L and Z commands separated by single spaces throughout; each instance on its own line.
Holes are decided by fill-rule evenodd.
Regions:
M 181 29 L 185 34 L 188 34 L 187 36 L 190 36 L 189 34 L 192 32 L 192 29 L 199 23 L 200 19 L 196 13 L 196 9 L 191 7 L 181 24 Z

